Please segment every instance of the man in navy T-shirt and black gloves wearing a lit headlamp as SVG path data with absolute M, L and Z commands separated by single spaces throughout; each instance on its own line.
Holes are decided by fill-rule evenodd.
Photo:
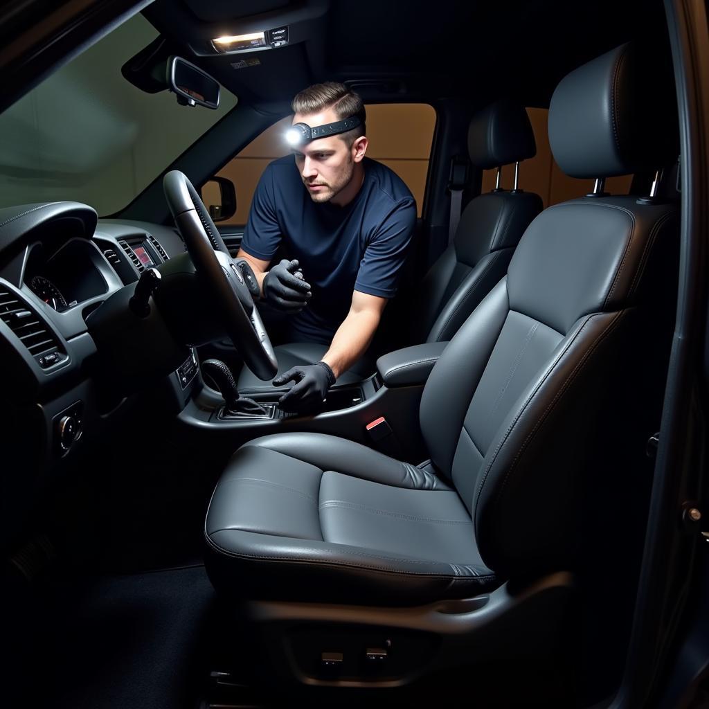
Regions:
M 416 218 L 401 179 L 367 152 L 362 99 L 327 82 L 293 100 L 293 155 L 274 160 L 257 186 L 238 257 L 262 298 L 291 313 L 289 341 L 330 345 L 316 364 L 274 379 L 297 382 L 285 411 L 313 411 L 362 357 L 396 293 Z M 289 131 L 291 133 L 291 131 Z M 291 260 L 267 270 L 279 245 Z M 302 269 L 302 272 L 301 272 Z

